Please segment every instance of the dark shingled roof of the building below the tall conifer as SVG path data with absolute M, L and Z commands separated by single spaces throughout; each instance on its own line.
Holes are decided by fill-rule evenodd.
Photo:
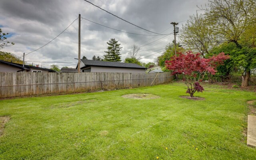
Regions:
M 122 63 L 122 62 L 106 62 L 102 60 L 81 60 L 85 67 L 88 66 L 106 66 L 106 67 L 120 67 L 120 68 L 140 68 L 146 69 L 138 64 L 134 63 Z M 77 68 L 77 67 L 76 67 Z

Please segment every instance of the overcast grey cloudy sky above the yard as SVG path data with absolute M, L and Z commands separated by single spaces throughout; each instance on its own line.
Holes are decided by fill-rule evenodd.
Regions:
M 173 31 L 170 22 L 186 23 L 189 16 L 196 13 L 196 5 L 204 5 L 208 0 L 88 0 L 93 4 L 123 18 L 137 26 L 168 34 Z M 93 22 L 117 30 L 136 34 L 156 35 L 128 24 L 84 0 L 1 0 L 0 28 L 8 35 L 14 46 L 2 49 L 21 56 L 24 52 L 27 64 L 40 64 L 49 68 L 51 64 L 75 67 L 78 57 L 78 14 Z M 74 21 L 75 20 L 75 21 Z M 74 23 L 60 36 L 65 28 Z M 55 40 L 50 42 L 53 38 Z M 177 36 L 178 37 L 178 36 Z M 91 59 L 93 55 L 102 57 L 110 38 L 119 40 L 122 60 L 132 45 L 140 48 L 140 61 L 153 62 L 160 51 L 174 35 L 142 36 L 119 32 L 94 24 L 85 19 L 81 21 L 81 57 Z M 177 38 L 178 39 L 178 38 Z M 50 42 L 48 45 L 44 46 Z M 40 47 L 43 48 L 32 52 Z M 32 52 L 28 54 L 29 52 Z M 157 53 L 159 52 L 159 53 Z M 156 53 L 156 54 L 155 54 Z M 154 55 L 152 55 L 154 54 Z M 145 57 L 145 58 L 144 58 Z M 61 63 L 56 61 L 62 61 Z

